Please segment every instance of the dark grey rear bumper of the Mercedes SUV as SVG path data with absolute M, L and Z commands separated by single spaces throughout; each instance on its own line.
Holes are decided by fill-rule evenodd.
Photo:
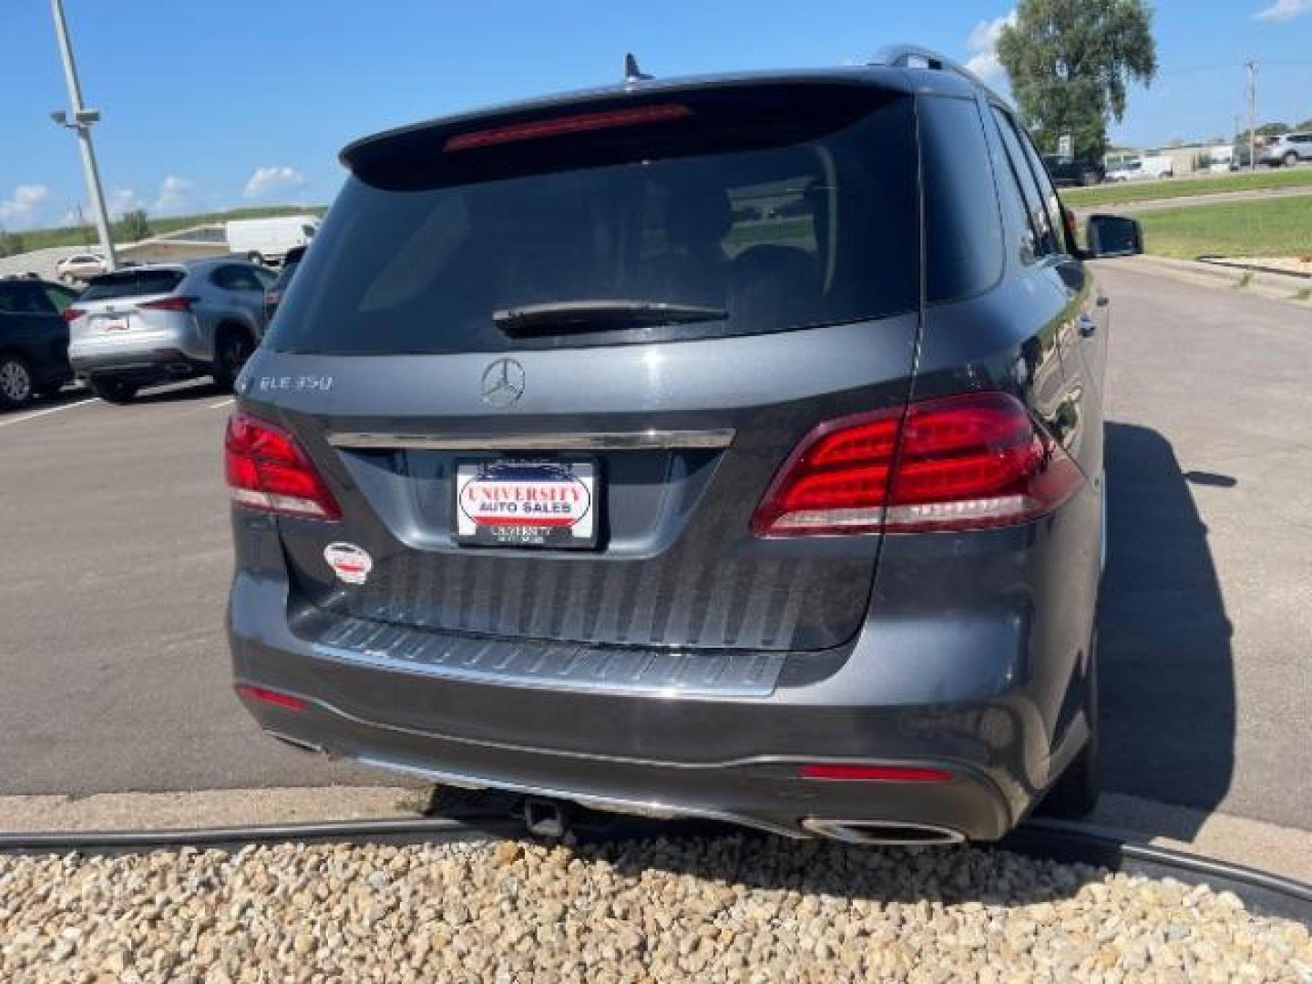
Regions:
M 293 711 L 244 698 L 276 736 L 437 782 L 791 836 L 807 836 L 815 821 L 859 821 L 989 841 L 1023 819 L 1089 733 L 1078 708 L 1098 509 L 1097 496 L 1081 496 L 1042 525 L 971 534 L 968 547 L 930 539 L 942 556 L 926 555 L 925 538 L 890 541 L 887 552 L 907 551 L 901 573 L 878 583 L 851 643 L 785 653 L 766 691 L 733 695 L 459 678 L 378 659 L 373 642 L 362 649 L 370 659 L 344 659 L 307 638 L 304 626 L 325 615 L 308 609 L 307 618 L 295 597 L 274 521 L 235 510 L 234 674 L 306 702 Z M 1069 596 L 1085 581 L 1071 573 L 1071 555 L 1044 541 L 1076 531 L 1086 541 L 1089 588 L 1063 607 L 1047 593 Z M 1018 585 L 1022 575 L 1027 590 L 991 589 L 971 602 L 972 585 Z M 377 625 L 378 639 L 395 632 Z M 930 766 L 953 778 L 803 779 L 804 762 Z

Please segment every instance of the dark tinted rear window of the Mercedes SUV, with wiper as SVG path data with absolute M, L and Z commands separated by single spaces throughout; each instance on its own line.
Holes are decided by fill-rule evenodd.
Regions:
M 827 96 L 804 112 L 760 104 L 732 125 L 690 104 L 689 122 L 622 134 L 467 152 L 438 143 L 408 148 L 395 165 L 370 160 L 316 235 L 270 344 L 496 352 L 774 332 L 913 310 L 911 100 L 834 87 Z M 493 320 L 525 306 L 606 300 L 723 316 L 592 319 L 529 337 Z

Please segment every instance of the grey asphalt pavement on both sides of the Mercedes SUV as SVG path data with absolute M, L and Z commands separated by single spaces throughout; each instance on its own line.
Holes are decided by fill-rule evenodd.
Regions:
M 1099 270 L 1107 786 L 1312 827 L 1312 319 Z M 0 794 L 395 782 L 285 749 L 232 697 L 228 404 L 192 384 L 0 417 Z

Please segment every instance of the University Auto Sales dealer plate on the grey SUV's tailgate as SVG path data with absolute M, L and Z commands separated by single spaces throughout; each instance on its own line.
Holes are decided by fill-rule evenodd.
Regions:
M 455 467 L 455 539 L 484 547 L 592 547 L 598 492 L 593 462 L 462 462 Z

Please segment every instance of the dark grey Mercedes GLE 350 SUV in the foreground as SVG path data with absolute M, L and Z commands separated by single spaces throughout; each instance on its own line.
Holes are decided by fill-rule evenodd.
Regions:
M 1110 308 L 1006 104 L 901 49 L 342 160 L 226 440 L 264 728 L 542 829 L 1092 804 Z

